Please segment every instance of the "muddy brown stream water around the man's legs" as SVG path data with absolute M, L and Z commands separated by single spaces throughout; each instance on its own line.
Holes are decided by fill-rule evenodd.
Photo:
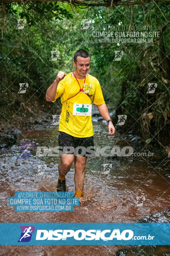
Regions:
M 93 118 L 94 143 L 96 146 L 129 145 L 120 134 L 108 137 L 105 122 Z M 88 157 L 84 197 L 81 205 L 73 212 L 15 212 L 8 206 L 8 197 L 16 191 L 54 191 L 58 177 L 59 157 L 37 157 L 37 146 L 58 145 L 58 126 L 47 130 L 22 131 L 16 145 L 1 151 L 0 162 L 0 220 L 1 222 L 137 222 L 147 215 L 153 215 L 169 208 L 170 178 L 161 174 L 156 163 L 148 159 L 133 157 Z M 19 159 L 20 142 L 34 142 L 30 158 Z M 103 164 L 112 167 L 108 174 L 103 172 Z M 45 173 L 37 175 L 38 165 L 46 165 Z M 66 176 L 67 191 L 74 192 L 74 164 Z M 143 205 L 138 206 L 136 197 L 142 197 Z M 145 200 L 144 200 L 145 198 Z M 159 218 L 170 222 L 170 218 Z M 127 246 L 126 246 L 127 247 Z M 0 256 L 86 256 L 114 255 L 125 246 L 0 246 Z M 128 247 L 130 248 L 130 247 Z M 136 247 L 136 254 L 141 247 Z M 157 251 L 170 253 L 170 247 L 156 247 Z M 123 254 L 122 254 L 123 255 Z M 130 255 L 130 254 L 129 254 Z M 143 254 L 145 255 L 145 254 Z M 147 255 L 147 254 L 146 254 Z M 168 254 L 169 255 L 169 254 Z

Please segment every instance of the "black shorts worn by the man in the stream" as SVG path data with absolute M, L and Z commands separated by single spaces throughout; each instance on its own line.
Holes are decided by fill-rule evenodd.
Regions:
M 93 136 L 78 138 L 63 131 L 59 131 L 59 156 L 62 154 L 74 154 L 80 156 L 94 156 Z

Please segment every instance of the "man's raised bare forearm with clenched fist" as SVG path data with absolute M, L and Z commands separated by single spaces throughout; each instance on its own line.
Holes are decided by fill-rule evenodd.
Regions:
M 46 95 L 45 95 L 45 99 L 46 101 L 54 101 L 55 96 L 56 96 L 56 91 L 57 91 L 57 86 L 59 84 L 59 82 L 66 76 L 67 74 L 65 74 L 62 71 L 59 71 L 59 73 L 57 74 L 56 79 L 54 80 L 54 82 L 50 85 L 50 87 L 48 87 Z

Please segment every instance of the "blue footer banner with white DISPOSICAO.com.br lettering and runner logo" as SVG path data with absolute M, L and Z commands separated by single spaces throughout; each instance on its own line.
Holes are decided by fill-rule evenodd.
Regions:
M 170 223 L 0 223 L 0 244 L 169 245 Z

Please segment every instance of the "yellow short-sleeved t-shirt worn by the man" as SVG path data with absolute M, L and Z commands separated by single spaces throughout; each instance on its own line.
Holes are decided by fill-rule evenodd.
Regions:
M 53 101 L 55 102 L 56 99 L 61 96 L 62 111 L 59 118 L 59 131 L 63 131 L 67 134 L 79 138 L 91 137 L 94 135 L 91 122 L 91 113 L 88 112 L 90 116 L 76 115 L 75 109 L 76 113 L 77 110 L 79 111 L 79 114 L 82 110 L 84 112 L 85 109 L 83 109 L 84 105 L 79 105 L 78 108 L 75 104 L 87 104 L 87 108 L 84 107 L 86 110 L 91 107 L 92 102 L 95 105 L 104 104 L 105 101 L 103 98 L 102 90 L 99 81 L 94 76 L 88 74 L 86 79 L 77 79 L 81 89 L 83 88 L 85 91 L 79 92 L 79 84 L 76 78 L 71 76 L 71 74 L 72 72 L 68 73 L 64 79 L 59 82 L 55 100 Z M 86 93 L 88 93 L 89 96 Z

